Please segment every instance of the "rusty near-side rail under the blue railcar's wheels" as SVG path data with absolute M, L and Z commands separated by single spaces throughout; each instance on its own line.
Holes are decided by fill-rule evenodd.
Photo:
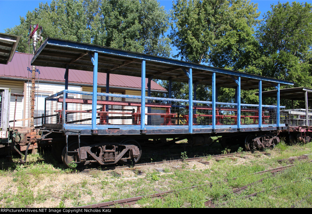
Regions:
M 201 161 L 205 160 L 206 158 L 225 158 L 225 157 L 232 157 L 236 155 L 242 155 L 242 154 L 251 154 L 251 152 L 236 152 L 236 153 L 229 153 L 229 154 L 221 154 L 221 155 L 210 155 L 210 156 L 202 156 L 202 157 L 194 157 L 194 158 L 186 158 L 186 159 L 174 159 L 174 160 L 163 160 L 163 161 L 158 161 L 158 162 L 150 162 L 150 163 L 142 163 L 142 164 L 135 164 L 134 166 L 114 166 L 114 167 L 103 167 L 102 170 L 110 170 L 110 169 L 124 169 L 124 168 L 138 168 L 141 166 L 146 166 L 146 165 L 156 165 L 156 164 L 164 164 L 164 163 L 174 163 L 174 162 L 191 162 L 191 161 Z M 263 153 L 267 154 L 267 153 Z M 82 172 L 88 172 L 90 170 L 96 170 L 97 168 L 93 169 L 85 169 Z

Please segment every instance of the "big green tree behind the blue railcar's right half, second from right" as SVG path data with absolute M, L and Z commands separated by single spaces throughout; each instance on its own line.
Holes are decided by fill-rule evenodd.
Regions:
M 257 4 L 250 1 L 178 0 L 173 3 L 171 15 L 175 26 L 169 36 L 179 50 L 175 57 L 219 68 L 248 70 L 259 57 L 259 43 L 253 36 L 260 15 L 256 10 Z M 188 85 L 177 86 L 182 88 L 174 90 L 188 97 Z M 211 99 L 210 88 L 198 85 L 197 99 Z M 219 101 L 233 101 L 233 89 L 218 91 Z

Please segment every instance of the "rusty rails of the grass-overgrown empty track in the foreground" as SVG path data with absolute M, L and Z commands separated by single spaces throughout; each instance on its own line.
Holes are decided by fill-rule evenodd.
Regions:
M 227 155 L 230 155 L 230 154 L 227 154 Z M 307 162 L 312 162 L 312 160 L 310 161 L 307 161 Z M 261 173 L 265 173 L 265 172 L 271 172 L 271 173 L 276 173 L 276 172 L 280 172 L 280 171 L 283 171 L 287 168 L 290 168 L 290 167 L 293 167 L 293 166 L 296 166 L 297 164 L 290 164 L 290 165 L 286 165 L 286 166 L 282 166 L 282 167 L 277 167 L 277 168 L 274 168 L 274 169 L 267 169 L 267 170 L 263 170 L 263 171 L 260 171 L 260 172 L 256 172 L 256 173 L 251 173 L 251 174 L 261 174 Z M 251 174 L 248 174 L 248 175 L 251 175 Z M 235 177 L 235 178 L 232 178 L 232 179 L 236 179 L 238 177 Z M 244 189 L 246 189 L 248 186 L 251 186 L 251 185 L 254 185 L 255 183 L 259 183 L 259 182 L 262 182 L 262 180 L 264 180 L 266 178 L 262 178 L 260 179 L 259 181 L 256 181 L 254 183 L 251 183 L 251 184 L 247 184 L 246 186 L 244 187 L 241 187 L 241 188 L 237 188 L 235 191 L 236 192 L 240 192 Z M 221 182 L 224 182 L 226 180 L 222 180 L 222 181 L 219 181 L 217 183 L 221 183 Z M 297 181 L 296 181 L 297 182 Z M 112 206 L 115 206 L 115 205 L 119 205 L 119 206 L 125 206 L 125 205 L 133 205 L 135 204 L 138 200 L 142 199 L 142 198 L 146 198 L 146 197 L 149 197 L 149 198 L 154 198 L 154 197 L 160 197 L 162 195 L 166 195 L 168 193 L 173 193 L 173 192 L 176 192 L 176 191 L 180 191 L 180 190 L 184 190 L 184 189 L 193 189 L 193 188 L 198 188 L 198 187 L 201 187 L 201 186 L 212 186 L 212 183 L 205 183 L 205 184 L 201 184 L 201 185 L 195 185 L 195 186 L 191 186 L 191 187 L 185 187 L 185 188 L 180 188 L 180 189 L 176 189 L 176 190 L 168 190 L 168 191 L 165 191 L 165 192 L 160 192 L 160 193 L 154 193 L 154 194 L 148 194 L 148 195 L 143 195 L 143 196 L 138 196 L 138 197 L 130 197 L 130 198 L 124 198 L 124 199 L 119 199 L 119 200 L 115 200 L 115 201 L 110 201 L 110 202 L 103 202 L 103 203 L 96 203 L 96 204 L 90 204 L 90 205 L 86 205 L 86 206 L 81 206 L 81 207 L 75 207 L 75 208 L 102 208 L 102 207 L 112 207 Z M 274 187 L 273 189 L 276 189 L 276 188 L 280 188 L 279 187 Z M 260 192 L 259 192 L 260 193 Z M 252 197 L 252 196 L 256 196 L 258 193 L 253 193 L 251 195 L 248 195 L 246 196 L 245 198 L 247 197 Z M 211 200 L 207 201 L 204 203 L 205 206 L 209 206 L 209 207 L 216 207 L 216 206 L 219 206 L 219 205 L 222 205 L 224 204 L 224 202 L 222 204 L 213 204 L 213 202 Z

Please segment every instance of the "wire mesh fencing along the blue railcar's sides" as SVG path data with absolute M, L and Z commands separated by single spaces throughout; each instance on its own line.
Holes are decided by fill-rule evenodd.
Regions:
M 193 113 L 193 126 L 212 126 L 214 117 L 212 102 L 208 101 L 193 101 L 193 109 L 189 111 L 188 100 L 146 97 L 143 104 L 141 96 L 110 93 L 97 93 L 95 108 L 97 126 L 139 126 L 143 122 L 150 127 L 188 126 L 189 112 Z M 215 109 L 217 126 L 237 125 L 236 103 L 217 102 Z M 241 104 L 240 113 L 242 125 L 259 124 L 258 105 Z M 261 116 L 263 125 L 276 124 L 276 106 L 262 107 Z M 282 118 L 283 115 L 281 123 Z M 297 122 L 303 119 L 293 118 Z M 46 97 L 45 123 L 91 125 L 92 93 L 65 90 Z

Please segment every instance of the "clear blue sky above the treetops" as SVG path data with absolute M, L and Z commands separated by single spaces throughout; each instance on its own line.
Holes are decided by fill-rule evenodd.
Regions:
M 15 25 L 19 25 L 20 23 L 20 16 L 26 15 L 27 11 L 32 11 L 35 7 L 38 7 L 39 2 L 48 2 L 51 1 L 37 1 L 37 0 L 0 0 L 0 32 L 4 33 L 4 29 L 14 27 Z M 160 0 L 160 5 L 164 6 L 166 10 L 170 10 L 172 7 L 172 0 Z M 258 3 L 258 11 L 261 12 L 259 18 L 262 18 L 262 15 L 270 10 L 270 5 L 277 4 L 278 1 L 251 1 L 254 3 Z M 287 1 L 280 1 L 280 2 L 287 2 Z M 290 1 L 292 2 L 292 1 Z M 308 2 L 312 3 L 312 0 L 308 1 L 297 1 L 297 2 Z

